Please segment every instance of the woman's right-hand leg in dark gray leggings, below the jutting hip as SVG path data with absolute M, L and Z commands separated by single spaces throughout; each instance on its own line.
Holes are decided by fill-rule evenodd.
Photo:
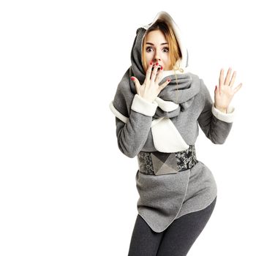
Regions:
M 217 197 L 201 211 L 185 214 L 164 230 L 157 256 L 185 256 L 210 219 Z

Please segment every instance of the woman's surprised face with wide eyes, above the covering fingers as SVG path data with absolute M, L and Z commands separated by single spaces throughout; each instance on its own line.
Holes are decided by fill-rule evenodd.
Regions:
M 170 53 L 167 40 L 165 39 L 165 34 L 160 30 L 150 31 L 146 37 L 145 45 L 145 56 L 146 56 L 146 69 L 150 62 L 154 64 L 158 62 L 159 66 L 163 67 L 163 70 L 170 69 Z

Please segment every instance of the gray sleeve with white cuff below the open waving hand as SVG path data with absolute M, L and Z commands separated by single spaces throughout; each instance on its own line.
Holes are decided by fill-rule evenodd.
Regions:
M 204 108 L 197 121 L 206 137 L 214 144 L 223 144 L 230 133 L 233 124 L 234 108 L 229 106 L 227 113 L 222 113 L 214 107 L 211 95 L 200 79 L 200 85 L 203 92 Z

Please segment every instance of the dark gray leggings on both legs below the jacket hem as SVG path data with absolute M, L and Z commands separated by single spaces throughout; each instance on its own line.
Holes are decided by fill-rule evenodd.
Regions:
M 192 244 L 203 231 L 217 201 L 201 211 L 175 219 L 173 223 L 161 233 L 156 233 L 145 220 L 137 216 L 128 256 L 185 256 Z

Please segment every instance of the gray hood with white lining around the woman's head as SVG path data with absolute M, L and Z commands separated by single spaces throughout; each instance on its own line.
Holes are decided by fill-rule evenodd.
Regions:
M 146 31 L 157 22 L 157 20 L 163 20 L 167 23 L 170 28 L 173 30 L 173 33 L 176 36 L 176 40 L 178 42 L 179 48 L 181 50 L 181 59 L 177 61 L 176 67 L 180 67 L 178 70 L 166 70 L 163 72 L 163 78 L 176 75 L 176 74 L 185 74 L 189 72 L 188 70 L 188 51 L 186 46 L 184 45 L 184 40 L 182 39 L 181 31 L 178 28 L 177 24 L 170 17 L 167 12 L 158 12 L 156 18 L 149 23 L 148 25 L 140 26 L 136 31 L 135 41 L 132 45 L 132 52 L 131 52 L 131 61 L 132 61 L 132 72 L 133 75 L 143 82 L 145 80 L 143 65 L 142 65 L 142 46 L 143 46 L 143 38 L 146 35 Z

